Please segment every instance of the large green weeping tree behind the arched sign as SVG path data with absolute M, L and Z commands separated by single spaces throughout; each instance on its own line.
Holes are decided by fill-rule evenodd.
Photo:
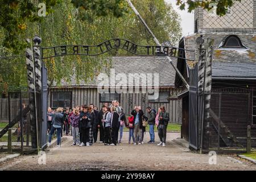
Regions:
M 16 34 L 15 39 L 17 42 L 24 43 L 26 38 L 32 39 L 37 34 L 42 38 L 42 43 L 40 44 L 42 47 L 63 44 L 94 45 L 112 38 L 124 38 L 141 45 L 154 45 L 154 40 L 145 30 L 142 23 L 139 22 L 128 3 L 126 1 L 118 2 L 122 2 L 119 6 L 126 11 L 120 16 L 114 13 L 97 14 L 98 10 L 95 11 L 92 8 L 84 9 L 82 6 L 77 8 L 68 0 L 56 3 L 52 6 L 51 13 L 48 13 L 46 17 L 40 18 L 39 21 L 23 20 L 26 28 L 24 32 Z M 160 42 L 169 40 L 174 45 L 178 42 L 181 36 L 180 18 L 171 5 L 165 3 L 164 0 L 137 0 L 133 1 L 133 3 Z M 92 16 L 87 16 L 86 14 Z M 21 55 L 21 57 L 13 60 L 9 65 L 9 69 L 5 69 L 5 72 L 0 72 L 0 86 L 2 90 L 10 90 L 11 86 L 13 88 L 26 88 L 27 73 L 24 48 L 19 47 L 18 51 L 6 48 L 6 36 L 6 29 L 2 27 L 0 29 L 0 46 L 8 51 L 6 55 L 16 54 Z M 110 68 L 110 56 L 124 54 L 130 55 L 130 53 L 119 49 L 97 57 L 63 56 L 45 59 L 44 62 L 48 68 L 48 78 L 51 84 L 53 82 L 61 84 L 61 80 L 71 83 L 71 78 L 74 75 L 76 82 L 88 82 L 98 73 Z M 0 61 L 3 63 L 1 57 Z M 8 62 L 7 59 L 5 61 L 5 63 Z M 15 66 L 15 63 L 19 64 Z M 5 64 L 0 64 L 1 70 L 5 67 Z M 17 72 L 18 77 L 13 74 L 16 69 L 19 69 Z M 17 80 L 15 80 L 15 77 Z M 16 81 L 15 84 L 13 80 Z

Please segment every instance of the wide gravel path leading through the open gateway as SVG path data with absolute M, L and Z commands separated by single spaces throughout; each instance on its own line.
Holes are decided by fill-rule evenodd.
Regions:
M 148 141 L 147 133 L 144 141 Z M 167 146 L 127 143 L 104 146 L 96 143 L 90 147 L 71 146 L 72 137 L 65 137 L 61 148 L 53 147 L 46 154 L 46 165 L 38 164 L 38 156 L 19 156 L 0 164 L 0 170 L 256 170 L 256 165 L 230 155 L 217 155 L 217 164 L 209 164 L 207 154 L 197 154 L 181 147 L 172 139 L 179 133 L 168 133 Z M 157 139 L 156 135 L 156 139 Z

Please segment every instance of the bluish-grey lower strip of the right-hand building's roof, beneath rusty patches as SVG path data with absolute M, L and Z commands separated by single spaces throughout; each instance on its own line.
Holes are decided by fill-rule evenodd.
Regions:
M 256 63 L 221 63 L 212 65 L 213 77 L 256 78 Z

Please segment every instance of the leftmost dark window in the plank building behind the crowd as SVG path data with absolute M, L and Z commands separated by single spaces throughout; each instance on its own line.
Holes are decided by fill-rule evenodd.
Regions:
M 71 108 L 71 92 L 52 92 L 52 108 L 69 107 Z

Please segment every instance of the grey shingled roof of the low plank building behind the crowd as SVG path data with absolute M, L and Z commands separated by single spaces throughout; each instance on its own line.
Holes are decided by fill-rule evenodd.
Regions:
M 174 65 L 176 65 L 176 59 L 173 59 Z M 154 73 L 159 73 L 159 86 L 174 86 L 175 70 L 169 63 L 166 57 L 158 56 L 114 56 L 112 57 L 112 68 L 115 70 L 115 75 L 118 73 L 125 73 L 127 80 L 129 79 L 129 73 L 152 74 L 152 84 L 154 84 Z M 102 71 L 103 73 L 105 71 Z M 105 72 L 106 73 L 106 72 Z M 109 75 L 109 72 L 107 73 Z M 141 78 L 143 84 L 146 84 L 146 80 Z M 71 78 L 71 84 L 65 81 L 61 81 L 60 86 L 98 86 L 100 81 L 97 77 L 88 82 L 80 81 L 79 84 L 75 81 L 75 75 Z M 115 81 L 117 84 L 119 81 Z M 127 81 L 128 83 L 128 81 Z M 134 86 L 137 83 L 133 83 Z M 56 84 L 53 84 L 56 86 Z

